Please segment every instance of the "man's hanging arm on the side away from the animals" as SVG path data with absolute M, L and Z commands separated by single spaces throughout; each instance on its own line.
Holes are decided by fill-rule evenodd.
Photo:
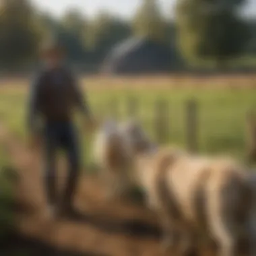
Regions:
M 36 132 L 38 121 L 38 92 L 40 85 L 40 75 L 37 75 L 30 85 L 30 95 L 28 98 L 28 131 Z

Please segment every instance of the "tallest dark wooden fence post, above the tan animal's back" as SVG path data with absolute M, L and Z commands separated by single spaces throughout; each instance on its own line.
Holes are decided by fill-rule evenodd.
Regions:
M 198 104 L 195 100 L 189 100 L 186 104 L 186 139 L 187 150 L 198 150 Z

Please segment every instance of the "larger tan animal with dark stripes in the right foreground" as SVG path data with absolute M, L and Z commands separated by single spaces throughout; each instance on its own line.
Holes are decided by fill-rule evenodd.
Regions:
M 225 158 L 191 156 L 174 148 L 152 150 L 136 122 L 124 125 L 123 132 L 133 141 L 135 180 L 160 216 L 168 244 L 174 246 L 173 235 L 181 234 L 186 251 L 203 234 L 218 243 L 219 255 L 235 255 L 238 239 L 248 236 L 253 222 L 249 172 Z

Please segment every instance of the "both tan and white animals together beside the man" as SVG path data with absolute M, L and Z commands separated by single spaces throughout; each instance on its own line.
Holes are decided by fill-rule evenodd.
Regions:
M 162 226 L 165 251 L 186 255 L 203 238 L 216 242 L 218 256 L 234 256 L 246 238 L 249 255 L 256 255 L 256 179 L 249 168 L 158 146 L 137 121 L 106 122 L 94 148 L 108 197 L 135 185 L 143 189 Z

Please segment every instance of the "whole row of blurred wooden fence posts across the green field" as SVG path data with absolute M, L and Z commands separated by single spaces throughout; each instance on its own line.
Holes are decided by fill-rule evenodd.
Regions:
M 121 114 L 123 114 L 123 111 L 121 113 L 121 104 L 122 107 L 123 105 L 125 107 L 125 115 L 123 116 L 121 116 Z M 184 102 L 184 104 L 184 129 L 182 129 L 182 131 L 184 131 L 185 148 L 187 148 L 189 152 L 198 152 L 200 132 L 199 103 L 195 99 L 190 99 Z M 108 106 L 102 106 L 102 109 L 104 113 L 108 112 L 117 119 L 119 117 L 127 119 L 133 117 L 138 118 L 139 107 L 139 98 L 135 95 L 129 95 L 125 99 L 125 102 L 121 102 L 119 98 L 111 98 L 108 100 Z M 150 121 L 156 142 L 166 144 L 170 142 L 172 133 L 177 132 L 175 130 L 177 126 L 173 123 L 177 120 L 172 119 L 172 117 L 174 116 L 170 115 L 170 102 L 166 99 L 158 98 L 153 105 L 153 119 Z M 151 127 L 150 130 L 152 130 Z M 247 160 L 256 162 L 256 112 L 253 111 L 250 111 L 249 115 L 247 115 L 247 148 L 245 150 Z

